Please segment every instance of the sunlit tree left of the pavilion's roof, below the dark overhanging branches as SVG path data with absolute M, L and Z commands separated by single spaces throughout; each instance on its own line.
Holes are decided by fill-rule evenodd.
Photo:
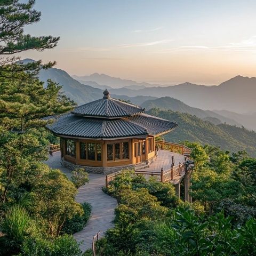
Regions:
M 61 86 L 48 81 L 44 88 L 38 78 L 21 73 L 19 78 L 0 83 L 0 125 L 24 131 L 49 122 L 46 116 L 65 113 L 74 102 L 60 95 Z

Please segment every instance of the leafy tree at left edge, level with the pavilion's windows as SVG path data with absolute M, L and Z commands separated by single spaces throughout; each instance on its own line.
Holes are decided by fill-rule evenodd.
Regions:
M 9 132 L 0 126 L 0 206 L 19 201 L 21 193 L 34 186 L 45 171 L 40 162 L 46 155 L 35 135 Z

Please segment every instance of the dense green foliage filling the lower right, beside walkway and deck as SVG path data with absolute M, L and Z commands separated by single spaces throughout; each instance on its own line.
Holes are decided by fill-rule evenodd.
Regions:
M 254 255 L 256 159 L 186 142 L 195 170 L 193 203 L 173 185 L 123 172 L 106 193 L 117 198 L 115 227 L 97 255 Z M 90 255 L 88 251 L 86 255 Z

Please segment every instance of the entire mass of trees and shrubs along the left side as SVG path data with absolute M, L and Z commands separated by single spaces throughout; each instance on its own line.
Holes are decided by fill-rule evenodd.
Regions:
M 81 229 L 90 206 L 75 202 L 77 184 L 43 163 L 47 145 L 58 139 L 44 128 L 50 119 L 42 118 L 65 113 L 74 102 L 58 84 L 49 80 L 44 85 L 37 78 L 39 69 L 54 62 L 6 57 L 57 44 L 58 37 L 23 34 L 23 27 L 41 16 L 34 3 L 0 0 L 0 255 L 78 256 L 79 245 L 62 228 L 66 224 L 70 234 L 74 220 Z M 81 177 L 78 181 L 84 182 Z

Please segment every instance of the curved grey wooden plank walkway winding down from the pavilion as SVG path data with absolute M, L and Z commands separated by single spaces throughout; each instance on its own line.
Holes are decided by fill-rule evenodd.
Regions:
M 71 171 L 61 165 L 60 152 L 53 153 L 45 163 L 53 169 L 60 169 L 70 178 Z M 105 175 L 102 174 L 89 173 L 89 183 L 78 188 L 76 201 L 78 203 L 86 201 L 92 206 L 91 218 L 86 227 L 74 234 L 78 243 L 83 241 L 80 245 L 83 252 L 91 248 L 92 237 L 99 230 L 101 230 L 101 237 L 106 230 L 114 227 L 113 219 L 117 202 L 115 198 L 108 196 L 101 190 L 102 186 L 105 185 L 105 178 Z

